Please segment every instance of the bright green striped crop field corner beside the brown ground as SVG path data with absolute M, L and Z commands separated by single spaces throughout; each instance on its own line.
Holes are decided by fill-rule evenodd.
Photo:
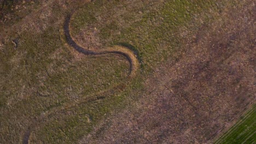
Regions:
M 226 131 L 214 143 L 255 143 L 256 142 L 256 105 Z

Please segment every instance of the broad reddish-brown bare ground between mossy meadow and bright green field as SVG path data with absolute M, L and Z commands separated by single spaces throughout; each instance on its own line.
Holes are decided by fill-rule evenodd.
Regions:
M 179 61 L 155 69 L 136 106 L 80 143 L 211 142 L 255 103 L 255 11 L 250 1 L 217 14 L 186 39 Z

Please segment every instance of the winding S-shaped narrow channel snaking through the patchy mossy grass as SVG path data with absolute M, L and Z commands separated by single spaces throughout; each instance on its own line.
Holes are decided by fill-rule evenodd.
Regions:
M 129 47 L 124 47 L 124 46 L 119 46 L 119 45 L 115 45 L 113 47 L 107 47 L 106 50 L 98 50 L 98 51 L 90 51 L 90 50 L 86 50 L 84 47 L 78 45 L 72 38 L 70 32 L 69 32 L 69 23 L 71 21 L 71 16 L 72 14 L 68 15 L 66 17 L 63 29 L 64 29 L 64 34 L 66 37 L 66 41 L 68 43 L 69 46 L 72 46 L 75 50 L 77 50 L 80 53 L 83 53 L 84 55 L 108 55 L 108 54 L 114 54 L 114 55 L 120 55 L 123 56 L 127 59 L 127 61 L 129 61 L 130 63 L 130 70 L 129 70 L 129 75 L 127 78 L 131 78 L 133 76 L 135 76 L 136 74 L 136 70 L 139 67 L 139 62 L 138 59 L 136 57 L 135 52 L 133 52 L 132 50 L 129 49 Z M 121 89 L 123 89 L 125 87 L 124 83 L 120 83 L 118 86 L 114 86 L 113 89 L 120 91 Z M 81 103 L 85 103 L 85 102 L 90 102 L 90 101 L 95 101 L 95 100 L 99 100 L 99 99 L 103 99 L 106 98 L 106 96 L 104 95 L 110 95 L 112 94 L 113 91 L 109 91 L 109 90 L 105 90 L 103 92 L 99 92 L 96 94 L 92 94 L 90 97 L 86 97 L 84 99 L 80 99 L 78 102 L 76 101 L 75 103 L 69 103 L 66 105 L 63 105 L 62 107 L 65 107 L 65 109 L 69 109 L 73 106 L 77 106 Z M 45 117 L 56 113 L 57 111 L 61 111 L 63 110 L 62 107 L 56 108 L 51 110 L 50 112 L 48 112 L 46 114 Z M 43 121 L 42 119 L 37 119 L 37 121 Z M 26 131 L 26 133 L 24 134 L 24 137 L 22 139 L 22 143 L 27 144 L 30 141 L 30 136 L 32 131 L 30 129 L 33 126 L 29 127 L 28 130 Z M 35 130 L 33 130 L 35 131 Z

